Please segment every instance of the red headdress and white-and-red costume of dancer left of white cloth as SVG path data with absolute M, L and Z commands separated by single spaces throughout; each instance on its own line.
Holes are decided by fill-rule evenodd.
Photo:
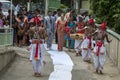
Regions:
M 34 30 L 34 37 L 30 40 L 30 60 L 32 61 L 33 70 L 35 73 L 40 74 L 41 68 L 44 64 L 44 55 L 45 55 L 45 48 L 44 48 L 44 40 L 40 38 L 40 26 L 41 18 L 34 17 L 31 22 L 34 22 L 36 26 L 33 28 Z

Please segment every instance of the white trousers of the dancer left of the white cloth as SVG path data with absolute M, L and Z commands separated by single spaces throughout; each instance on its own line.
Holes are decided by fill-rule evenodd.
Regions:
M 32 61 L 33 70 L 35 73 L 40 73 L 41 68 L 44 65 L 44 56 L 45 56 L 44 44 L 39 44 L 38 46 L 38 60 L 34 58 L 35 51 L 36 51 L 36 44 L 31 44 L 30 60 Z

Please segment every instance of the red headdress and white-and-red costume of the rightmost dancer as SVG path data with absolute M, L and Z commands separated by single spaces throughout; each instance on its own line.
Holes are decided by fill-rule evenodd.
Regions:
M 103 38 L 105 38 L 105 28 L 106 28 L 106 23 L 102 23 L 100 26 L 101 30 L 96 31 L 99 34 L 100 40 L 96 40 L 96 45 L 93 49 L 94 53 L 94 66 L 96 70 L 102 71 L 105 60 L 106 60 L 106 42 L 104 41 Z M 101 40 L 103 39 L 103 40 Z

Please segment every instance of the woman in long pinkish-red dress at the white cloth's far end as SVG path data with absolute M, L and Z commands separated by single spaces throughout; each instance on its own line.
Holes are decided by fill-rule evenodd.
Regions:
M 64 28 L 66 26 L 64 17 L 65 15 L 62 13 L 60 19 L 56 22 L 56 31 L 58 34 L 58 51 L 62 51 L 64 45 Z

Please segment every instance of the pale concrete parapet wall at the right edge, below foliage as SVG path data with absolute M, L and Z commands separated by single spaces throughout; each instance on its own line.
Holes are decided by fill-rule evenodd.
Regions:
M 107 32 L 108 37 L 112 39 L 112 42 L 106 46 L 107 54 L 120 71 L 120 35 L 111 30 Z

